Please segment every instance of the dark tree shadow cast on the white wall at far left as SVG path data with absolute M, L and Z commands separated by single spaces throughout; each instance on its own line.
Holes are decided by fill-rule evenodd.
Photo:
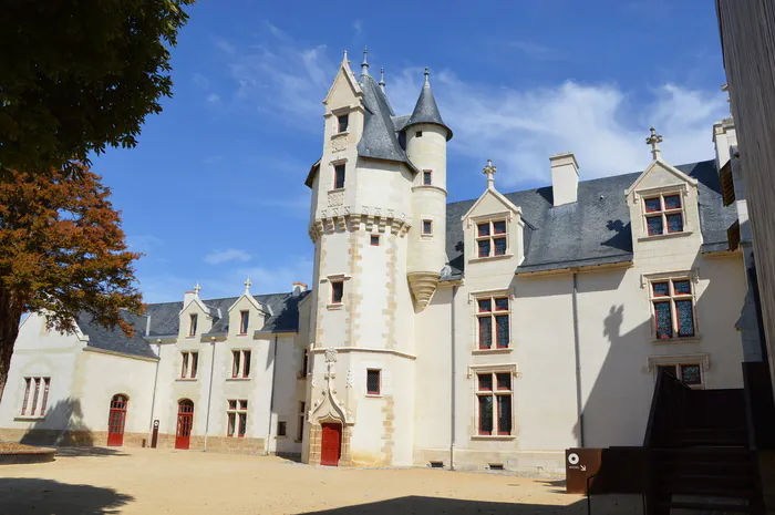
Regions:
M 92 431 L 83 423 L 81 401 L 62 399 L 52 405 L 45 418 L 35 422 L 22 436 L 21 443 L 29 445 L 92 446 Z

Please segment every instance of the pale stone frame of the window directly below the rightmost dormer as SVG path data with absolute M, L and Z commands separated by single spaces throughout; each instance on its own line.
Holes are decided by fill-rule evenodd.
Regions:
M 673 281 L 675 280 L 688 280 L 690 288 L 692 289 L 690 293 L 673 295 Z M 670 292 L 665 296 L 655 296 L 653 285 L 655 282 L 668 282 Z M 696 285 L 699 284 L 699 272 L 696 269 L 691 270 L 676 270 L 676 271 L 662 271 L 652 274 L 641 275 L 641 288 L 647 288 L 647 296 L 649 301 L 649 313 L 651 320 L 651 342 L 655 344 L 669 344 L 669 343 L 682 343 L 686 341 L 698 341 L 702 339 L 702 333 L 700 332 L 700 321 L 698 317 L 698 291 Z M 679 337 L 678 336 L 678 311 L 675 309 L 675 300 L 691 300 L 692 301 L 692 320 L 694 322 L 694 334 Z M 670 301 L 670 316 L 672 321 L 673 337 L 671 338 L 659 338 L 657 336 L 657 312 L 654 308 L 655 302 Z

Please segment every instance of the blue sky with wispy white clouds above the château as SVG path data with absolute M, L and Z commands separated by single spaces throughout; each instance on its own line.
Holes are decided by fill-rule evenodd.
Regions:
M 711 124 L 728 115 L 710 0 L 492 2 L 203 0 L 173 51 L 174 97 L 140 145 L 93 169 L 123 212 L 149 302 L 310 281 L 309 167 L 342 50 L 369 45 L 399 114 L 430 66 L 448 147 L 450 199 L 549 183 L 551 154 L 575 152 L 581 178 L 649 162 L 650 125 L 679 164 L 713 157 Z

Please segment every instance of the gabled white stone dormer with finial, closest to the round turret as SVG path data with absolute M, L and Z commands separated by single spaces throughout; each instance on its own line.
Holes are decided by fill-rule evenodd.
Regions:
M 487 176 L 487 189 L 463 215 L 466 276 L 478 274 L 486 264 L 504 264 L 514 269 L 525 257 L 521 209 L 495 188 L 496 167 L 492 161 L 483 173 Z M 492 267 L 487 267 L 487 274 Z

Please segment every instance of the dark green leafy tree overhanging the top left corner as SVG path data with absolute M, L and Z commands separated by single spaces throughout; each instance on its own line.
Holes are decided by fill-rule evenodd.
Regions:
M 195 0 L 1 0 L 0 169 L 89 165 L 133 147 L 172 95 L 169 48 Z

